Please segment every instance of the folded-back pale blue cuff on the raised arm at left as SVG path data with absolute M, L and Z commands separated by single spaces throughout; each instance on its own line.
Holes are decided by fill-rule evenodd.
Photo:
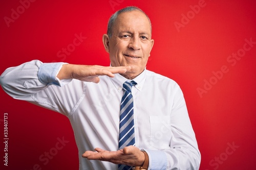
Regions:
M 59 80 L 57 78 L 57 75 L 59 73 L 59 70 L 61 69 L 63 62 L 58 63 L 42 63 L 38 70 L 38 79 L 41 83 L 47 84 L 47 85 L 56 85 L 56 86 L 63 86 L 69 82 L 71 82 L 72 79 L 67 80 Z

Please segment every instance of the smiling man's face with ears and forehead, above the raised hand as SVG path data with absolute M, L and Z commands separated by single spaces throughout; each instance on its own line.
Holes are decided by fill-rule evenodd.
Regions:
M 145 14 L 140 11 L 124 12 L 118 15 L 112 37 L 103 42 L 110 54 L 112 66 L 131 66 L 131 70 L 122 74 L 134 79 L 144 70 L 150 56 L 154 40 L 151 39 L 151 27 Z

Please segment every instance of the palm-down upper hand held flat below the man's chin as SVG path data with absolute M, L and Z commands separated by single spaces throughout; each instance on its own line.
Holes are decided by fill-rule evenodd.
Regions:
M 104 67 L 100 65 L 75 65 L 63 64 L 57 78 L 62 79 L 78 79 L 87 82 L 99 82 L 99 76 L 114 77 L 114 74 L 123 74 L 129 71 L 131 66 Z

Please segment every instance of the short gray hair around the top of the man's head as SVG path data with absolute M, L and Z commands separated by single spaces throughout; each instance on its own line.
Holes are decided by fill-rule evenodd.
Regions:
M 113 31 L 113 26 L 115 24 L 115 21 L 118 17 L 119 14 L 121 13 L 124 13 L 124 12 L 129 12 L 129 11 L 141 11 L 142 13 L 144 13 L 146 15 L 146 13 L 144 11 L 142 11 L 140 8 L 138 7 L 134 7 L 134 6 L 131 6 L 131 7 L 125 7 L 123 9 L 120 9 L 119 11 L 116 11 L 109 19 L 109 22 L 108 22 L 108 30 L 107 30 L 107 34 L 108 36 L 111 38 L 112 37 L 112 31 Z M 150 18 L 146 15 L 148 21 L 150 22 L 150 30 L 152 32 L 152 26 L 151 26 L 151 21 L 150 21 Z

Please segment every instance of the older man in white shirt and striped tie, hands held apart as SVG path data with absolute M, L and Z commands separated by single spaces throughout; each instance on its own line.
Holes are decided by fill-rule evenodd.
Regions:
M 117 11 L 103 44 L 109 67 L 33 60 L 7 68 L 1 85 L 69 118 L 79 169 L 199 169 L 179 85 L 146 69 L 154 44 L 148 16 L 137 7 Z

